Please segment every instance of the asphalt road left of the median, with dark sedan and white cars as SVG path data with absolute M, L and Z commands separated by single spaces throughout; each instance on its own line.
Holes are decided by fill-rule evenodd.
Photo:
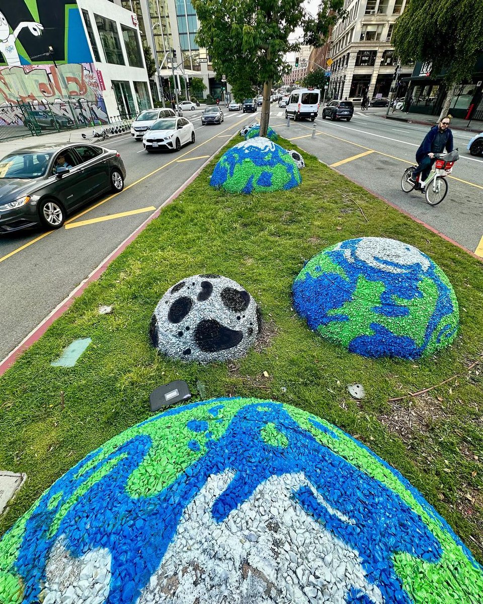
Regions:
M 103 145 L 117 149 L 126 165 L 122 193 L 86 206 L 69 217 L 58 231 L 46 235 L 40 230 L 19 231 L 0 237 L 0 359 L 20 344 L 233 133 L 260 116 L 260 111 L 223 112 L 225 121 L 210 126 L 201 125 L 200 111 L 184 112 L 193 121 L 196 143 L 182 147 L 179 153 L 148 154 L 142 143 L 130 136 L 105 141 Z

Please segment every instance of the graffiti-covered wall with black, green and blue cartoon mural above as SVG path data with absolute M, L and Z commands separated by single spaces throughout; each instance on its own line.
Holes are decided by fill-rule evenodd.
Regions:
M 0 0 L 0 122 L 11 123 L 11 105 L 24 103 L 53 103 L 80 123 L 106 121 L 92 60 L 75 0 Z

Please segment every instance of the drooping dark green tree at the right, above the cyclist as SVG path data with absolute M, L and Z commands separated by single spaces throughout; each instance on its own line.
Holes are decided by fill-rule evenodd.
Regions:
M 397 19 L 392 43 L 403 65 L 431 63 L 432 74 L 444 74 L 449 111 L 456 86 L 470 80 L 483 48 L 483 2 L 479 0 L 410 0 Z

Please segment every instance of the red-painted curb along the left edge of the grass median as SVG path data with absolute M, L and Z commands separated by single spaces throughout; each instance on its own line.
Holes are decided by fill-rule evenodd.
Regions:
M 123 134 L 126 134 L 126 132 L 123 132 Z M 234 132 L 234 134 L 226 141 L 226 143 L 229 143 L 229 141 L 231 141 L 232 138 L 236 137 L 237 134 L 238 130 Z M 62 302 L 57 304 L 54 310 L 52 310 L 45 317 L 45 319 L 43 319 L 36 327 L 34 327 L 34 329 L 20 342 L 20 344 L 18 344 L 10 353 L 8 353 L 7 356 L 5 356 L 3 361 L 0 362 L 0 376 L 2 376 L 5 371 L 7 371 L 7 369 L 14 364 L 14 362 L 19 358 L 19 356 L 22 355 L 22 353 L 25 352 L 25 350 L 30 348 L 32 344 L 34 344 L 35 342 L 37 342 L 37 340 L 40 339 L 40 337 L 46 332 L 46 330 L 48 330 L 51 324 L 53 324 L 54 321 L 59 318 L 59 316 L 62 316 L 63 313 L 65 313 L 65 311 L 68 310 L 68 308 L 72 305 L 72 303 L 74 303 L 75 298 L 80 297 L 82 292 L 87 288 L 90 283 L 98 280 L 98 278 L 103 274 L 103 272 L 106 271 L 110 263 L 113 262 L 113 260 L 115 260 L 118 255 L 120 255 L 121 252 L 123 252 L 124 249 L 126 249 L 127 246 L 131 242 L 133 242 L 133 240 L 136 239 L 136 237 L 138 237 L 139 233 L 144 231 L 144 229 L 147 227 L 147 225 L 149 225 L 150 222 L 152 222 L 155 218 L 159 216 L 159 214 L 161 214 L 162 209 L 169 205 L 172 201 L 174 201 L 174 199 L 178 198 L 178 196 L 191 184 L 191 182 L 193 182 L 194 179 L 196 179 L 197 176 L 200 175 L 202 170 L 205 169 L 206 165 L 210 163 L 210 161 L 214 158 L 214 156 L 217 155 L 217 153 L 219 153 L 219 151 L 220 150 L 217 150 L 208 159 L 206 159 L 206 161 L 202 165 L 200 165 L 196 172 L 194 172 L 193 175 L 191 175 L 190 178 L 188 178 L 188 180 L 181 185 L 181 187 L 174 191 L 174 193 L 166 201 L 164 201 L 157 210 L 150 214 L 150 216 L 147 217 L 147 219 L 144 220 L 144 222 L 142 222 L 142 224 L 139 225 L 138 228 L 133 231 L 133 233 L 126 237 L 126 239 L 124 239 L 124 241 L 120 243 L 120 245 L 118 245 L 117 248 L 114 249 L 114 251 L 110 252 L 110 254 L 107 255 L 106 258 L 100 263 L 100 265 L 98 265 L 97 268 L 95 268 L 94 271 L 92 271 L 88 275 L 88 277 L 86 277 L 80 284 L 78 284 L 77 288 L 74 288 L 71 293 L 66 298 L 64 298 L 64 300 L 62 300 Z

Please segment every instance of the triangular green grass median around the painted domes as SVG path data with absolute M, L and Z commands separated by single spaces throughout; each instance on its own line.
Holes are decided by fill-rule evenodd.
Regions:
M 0 377 L 0 469 L 28 476 L 0 519 L 0 534 L 89 451 L 149 417 L 153 388 L 185 379 L 193 400 L 280 400 L 355 435 L 401 471 L 483 562 L 483 266 L 303 155 L 300 187 L 249 196 L 210 188 L 214 159 Z M 307 329 L 291 307 L 293 279 L 322 248 L 359 236 L 411 243 L 443 268 L 461 312 L 452 347 L 420 362 L 373 360 Z M 148 331 L 159 298 L 181 278 L 210 272 L 238 281 L 260 304 L 257 349 L 204 367 L 156 355 Z M 98 313 L 104 304 L 113 306 L 110 315 Z M 92 344 L 75 367 L 51 367 L 83 337 Z M 366 390 L 360 402 L 347 392 L 354 382 Z

